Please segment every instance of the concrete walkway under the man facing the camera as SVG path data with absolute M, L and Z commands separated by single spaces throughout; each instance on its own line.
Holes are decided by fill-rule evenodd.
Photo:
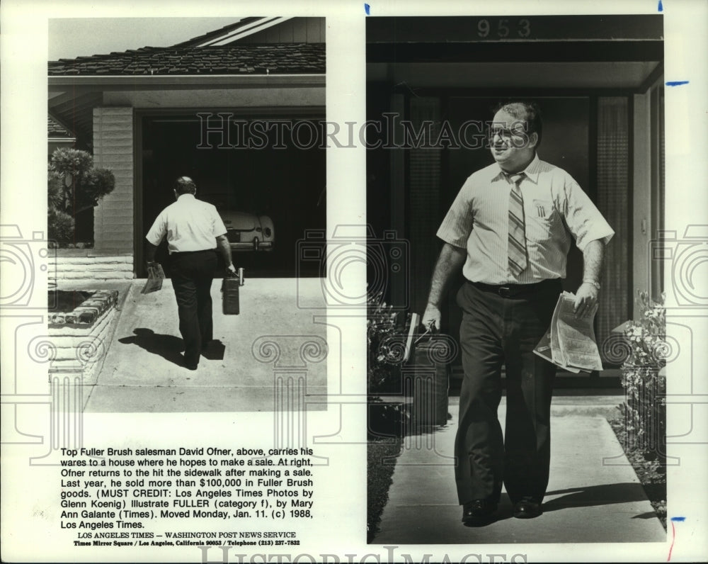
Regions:
M 582 398 L 575 399 L 582 403 Z M 666 541 L 666 531 L 607 420 L 588 414 L 583 405 L 573 412 L 567 399 L 554 407 L 551 478 L 542 516 L 514 519 L 502 493 L 498 521 L 479 528 L 463 526 L 452 466 L 457 405 L 450 405 L 450 413 L 445 427 L 406 437 L 372 543 Z M 502 402 L 502 422 L 505 415 Z

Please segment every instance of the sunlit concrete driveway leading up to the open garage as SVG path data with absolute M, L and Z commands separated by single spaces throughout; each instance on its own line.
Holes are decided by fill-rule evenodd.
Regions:
M 144 282 L 130 285 L 86 412 L 272 411 L 282 400 L 275 394 L 288 386 L 326 393 L 326 326 L 313 320 L 324 313 L 319 278 L 247 278 L 239 315 L 222 314 L 215 279 L 216 342 L 196 371 L 181 366 L 171 281 L 142 295 Z M 314 349 L 304 354 L 308 342 Z

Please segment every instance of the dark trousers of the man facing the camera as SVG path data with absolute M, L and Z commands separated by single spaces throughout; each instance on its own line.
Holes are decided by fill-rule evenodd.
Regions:
M 498 502 L 502 483 L 512 502 L 542 500 L 551 456 L 550 412 L 555 366 L 533 354 L 548 330 L 561 292 L 547 281 L 530 293 L 503 298 L 465 283 L 459 340 L 464 380 L 455 437 L 459 503 Z M 506 437 L 497 407 L 506 363 Z

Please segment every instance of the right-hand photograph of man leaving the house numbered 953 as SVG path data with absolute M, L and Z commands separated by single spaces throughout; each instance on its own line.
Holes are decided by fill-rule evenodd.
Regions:
M 369 542 L 666 541 L 663 14 L 366 23 Z

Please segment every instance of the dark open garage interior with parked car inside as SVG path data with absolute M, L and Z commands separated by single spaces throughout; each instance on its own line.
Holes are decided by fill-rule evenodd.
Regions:
M 137 257 L 145 232 L 174 201 L 173 182 L 190 176 L 197 198 L 219 210 L 234 265 L 249 278 L 320 276 L 320 265 L 298 264 L 297 241 L 306 230 L 326 228 L 326 157 L 318 133 L 324 131 L 324 113 L 200 110 L 138 119 Z M 163 242 L 156 258 L 165 263 L 167 257 Z M 144 261 L 136 261 L 136 269 L 147 276 Z

